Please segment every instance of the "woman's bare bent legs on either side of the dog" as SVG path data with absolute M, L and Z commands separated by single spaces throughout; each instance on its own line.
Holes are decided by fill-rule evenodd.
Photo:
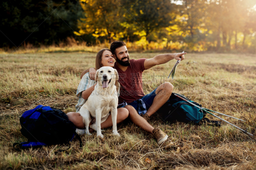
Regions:
M 68 119 L 75 124 L 75 126 L 78 129 L 84 129 L 85 125 L 83 122 L 83 117 L 80 115 L 80 113 L 77 112 L 68 112 L 67 113 Z M 117 118 L 116 118 L 116 124 L 119 124 L 124 121 L 129 116 L 129 111 L 125 108 L 118 108 L 117 109 Z M 91 125 L 91 124 L 90 124 Z M 111 114 L 108 116 L 105 122 L 102 122 L 100 124 L 101 129 L 102 128 L 108 128 L 112 126 L 112 119 Z M 91 131 L 90 131 L 91 132 Z

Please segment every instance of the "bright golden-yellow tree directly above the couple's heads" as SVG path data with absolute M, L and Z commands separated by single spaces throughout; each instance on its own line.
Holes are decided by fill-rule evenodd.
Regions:
M 111 41 L 117 33 L 122 33 L 119 19 L 123 16 L 120 3 L 117 0 L 83 0 L 81 6 L 84 18 L 78 23 L 79 31 L 76 35 L 92 34 L 100 41 Z

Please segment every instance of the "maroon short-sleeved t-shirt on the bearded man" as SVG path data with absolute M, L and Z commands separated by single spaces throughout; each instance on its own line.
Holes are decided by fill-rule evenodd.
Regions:
M 115 63 L 115 68 L 119 76 L 118 82 L 121 86 L 118 104 L 121 104 L 124 101 L 126 103 L 131 103 L 145 96 L 142 89 L 142 72 L 145 70 L 145 60 L 146 59 L 130 59 L 130 65 L 125 71 L 118 68 Z

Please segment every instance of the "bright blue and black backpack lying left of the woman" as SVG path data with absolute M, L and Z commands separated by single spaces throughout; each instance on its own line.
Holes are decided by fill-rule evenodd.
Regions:
M 38 105 L 25 111 L 20 117 L 21 134 L 28 142 L 14 143 L 15 150 L 37 148 L 47 145 L 69 144 L 76 135 L 75 125 L 68 120 L 66 113 L 49 106 Z M 82 147 L 81 138 L 76 135 Z

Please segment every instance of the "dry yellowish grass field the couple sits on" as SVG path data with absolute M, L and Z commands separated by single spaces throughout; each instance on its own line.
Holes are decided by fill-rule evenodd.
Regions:
M 151 58 L 157 53 L 130 53 L 130 58 Z M 71 148 L 53 145 L 17 152 L 24 142 L 20 116 L 39 104 L 75 111 L 80 73 L 94 67 L 96 53 L 0 54 L 0 169 L 256 169 L 256 142 L 221 121 L 221 127 L 184 123 L 164 124 L 150 119 L 169 138 L 161 146 L 130 122 L 112 128 L 105 138 L 82 136 Z M 240 119 L 220 116 L 256 135 L 256 55 L 188 53 L 177 67 L 174 80 L 167 79 L 176 61 L 144 71 L 144 92 L 169 81 L 174 92 L 190 96 L 203 107 Z M 153 76 L 155 75 L 155 76 Z M 165 75 L 165 77 L 164 77 Z M 154 80 L 154 81 L 153 81 Z M 218 120 L 207 115 L 209 119 Z

